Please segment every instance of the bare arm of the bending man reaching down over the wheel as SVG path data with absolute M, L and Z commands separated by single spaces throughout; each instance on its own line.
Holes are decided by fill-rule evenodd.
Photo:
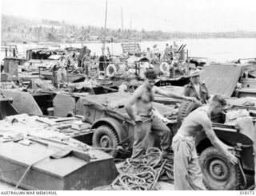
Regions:
M 210 139 L 210 142 L 214 145 L 214 147 L 217 147 L 219 151 L 222 151 L 222 153 L 226 155 L 231 163 L 238 163 L 238 159 L 234 155 L 232 155 L 230 151 L 228 151 L 228 149 L 231 147 L 227 146 L 225 143 L 222 143 L 222 141 L 218 139 L 217 135 L 215 135 L 210 119 L 206 116 L 200 116 L 200 118 L 198 119 L 200 119 L 202 127 L 206 131 L 206 135 L 208 139 Z

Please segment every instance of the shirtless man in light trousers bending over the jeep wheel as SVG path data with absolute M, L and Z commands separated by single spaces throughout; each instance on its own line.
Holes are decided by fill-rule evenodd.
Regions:
M 225 106 L 226 100 L 215 95 L 210 104 L 197 108 L 186 116 L 177 134 L 174 135 L 174 190 L 206 190 L 194 143 L 195 135 L 199 131 L 205 131 L 213 146 L 222 151 L 231 163 L 238 163 L 238 159 L 229 151 L 233 147 L 218 139 L 210 121 L 210 116 L 222 113 Z

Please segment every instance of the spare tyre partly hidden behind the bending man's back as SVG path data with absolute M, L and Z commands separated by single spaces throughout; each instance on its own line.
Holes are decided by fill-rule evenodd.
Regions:
M 190 112 L 194 111 L 196 108 L 199 108 L 202 104 L 199 101 L 190 101 L 186 100 L 182 102 L 178 108 L 178 121 L 182 121 Z

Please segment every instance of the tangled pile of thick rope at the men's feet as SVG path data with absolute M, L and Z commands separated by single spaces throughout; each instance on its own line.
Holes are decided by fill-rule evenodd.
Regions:
M 174 181 L 173 155 L 170 155 L 170 159 L 164 159 L 158 148 L 151 147 L 140 163 L 134 165 L 130 159 L 126 159 L 118 171 L 118 177 L 109 186 L 94 190 L 155 190 L 158 180 Z

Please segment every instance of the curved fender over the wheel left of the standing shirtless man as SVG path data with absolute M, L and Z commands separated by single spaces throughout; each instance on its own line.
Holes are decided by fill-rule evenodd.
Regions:
M 96 120 L 90 129 L 95 129 L 103 124 L 108 124 L 110 127 L 114 128 L 114 131 L 116 131 L 118 135 L 119 142 L 121 142 L 123 139 L 126 139 L 129 136 L 129 130 L 125 127 L 125 121 L 124 123 L 120 123 L 120 121 L 115 120 L 110 117 L 106 117 L 100 120 Z M 130 124 L 129 124 L 130 126 Z M 130 140 L 130 139 L 129 139 Z

